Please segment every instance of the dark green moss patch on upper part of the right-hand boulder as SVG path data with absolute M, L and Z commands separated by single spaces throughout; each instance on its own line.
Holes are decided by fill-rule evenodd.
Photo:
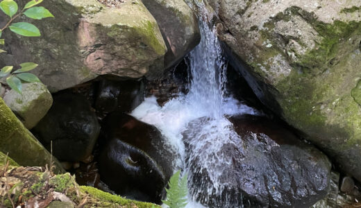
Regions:
M 321 37 L 321 42 L 315 42 L 314 49 L 306 51 L 305 54 L 299 55 L 299 60 L 292 65 L 303 68 L 303 71 L 319 72 L 324 71 L 330 64 L 334 64 L 333 60 L 339 56 L 340 48 L 344 46 L 344 42 L 349 37 L 357 33 L 361 35 L 361 22 L 358 21 L 339 21 L 335 20 L 332 24 L 319 21 L 313 12 L 307 12 L 299 7 L 292 6 L 284 12 L 279 12 L 264 24 L 267 31 L 260 31 L 262 36 L 269 40 L 276 40 L 273 33 L 269 31 L 275 28 L 278 21 L 290 21 L 293 16 L 299 15 L 317 31 Z M 283 37 L 286 42 L 289 37 Z M 294 38 L 294 37 L 292 37 Z M 303 45 L 301 41 L 299 44 Z M 283 50 L 278 50 L 283 53 Z M 295 51 L 297 53 L 297 51 Z M 343 55 L 343 54 L 341 54 Z M 287 55 L 285 55 L 287 57 Z

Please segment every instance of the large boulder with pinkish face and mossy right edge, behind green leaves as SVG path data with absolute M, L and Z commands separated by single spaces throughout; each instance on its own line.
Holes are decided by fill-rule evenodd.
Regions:
M 27 1 L 19 2 L 19 8 Z M 41 3 L 56 18 L 42 21 L 20 19 L 35 24 L 41 37 L 19 37 L 3 33 L 6 51 L 0 66 L 21 62 L 40 64 L 34 73 L 58 92 L 96 78 L 113 74 L 127 78 L 152 76 L 153 65 L 164 69 L 167 47 L 156 19 L 140 0 L 126 0 L 119 8 L 97 0 L 49 0 Z M 7 18 L 1 14 L 0 24 Z

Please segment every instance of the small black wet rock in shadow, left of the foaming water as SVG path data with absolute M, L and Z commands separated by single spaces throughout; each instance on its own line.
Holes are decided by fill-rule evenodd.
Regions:
M 100 112 L 131 112 L 144 101 L 144 84 L 137 80 L 101 80 L 95 107 Z

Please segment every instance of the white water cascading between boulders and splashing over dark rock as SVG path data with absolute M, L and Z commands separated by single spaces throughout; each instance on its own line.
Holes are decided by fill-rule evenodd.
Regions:
M 209 28 L 208 21 L 211 15 L 199 5 L 200 16 L 203 21 L 199 22 L 201 29 L 201 43 L 190 53 L 190 71 L 192 82 L 190 92 L 187 95 L 181 94 L 172 99 L 163 107 L 156 102 L 155 97 L 146 98 L 137 107 L 132 115 L 146 123 L 155 125 L 162 135 L 167 138 L 171 146 L 179 153 L 180 157 L 175 166 L 187 170 L 185 164 L 185 146 L 183 144 L 182 132 L 187 130 L 187 124 L 194 119 L 209 117 L 212 122 L 208 125 L 199 126 L 195 129 L 196 138 L 192 142 L 196 147 L 197 155 L 187 155 L 201 158 L 201 166 L 211 167 L 210 180 L 214 187 L 209 187 L 208 192 L 220 193 L 226 184 L 219 183 L 221 170 L 226 166 L 225 159 L 215 154 L 221 146 L 230 143 L 230 135 L 235 133 L 231 130 L 231 123 L 224 115 L 231 114 L 258 114 L 253 108 L 243 105 L 234 98 L 224 97 L 224 85 L 226 84 L 226 61 L 222 55 L 221 46 L 215 35 L 215 28 Z M 237 136 L 235 136 L 237 137 Z M 203 147 L 212 144 L 205 152 Z M 216 156 L 217 155 L 217 156 Z M 189 174 L 192 177 L 192 174 Z M 190 180 L 189 180 L 190 181 Z M 190 189 L 196 189 L 188 184 Z M 198 193 L 208 194 L 208 193 Z M 188 202 L 188 208 L 203 207 L 192 200 Z

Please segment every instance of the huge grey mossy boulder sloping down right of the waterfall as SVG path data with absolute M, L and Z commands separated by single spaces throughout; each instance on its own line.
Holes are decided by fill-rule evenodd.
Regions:
M 361 181 L 361 1 L 210 4 L 233 64 L 262 103 Z

